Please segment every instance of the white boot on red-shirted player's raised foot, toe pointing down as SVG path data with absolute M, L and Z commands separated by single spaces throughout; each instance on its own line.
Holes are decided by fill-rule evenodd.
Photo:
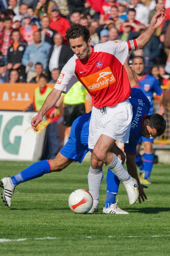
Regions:
M 133 205 L 139 197 L 137 180 L 131 177 L 130 180 L 123 181 L 123 184 L 128 194 L 129 204 Z

